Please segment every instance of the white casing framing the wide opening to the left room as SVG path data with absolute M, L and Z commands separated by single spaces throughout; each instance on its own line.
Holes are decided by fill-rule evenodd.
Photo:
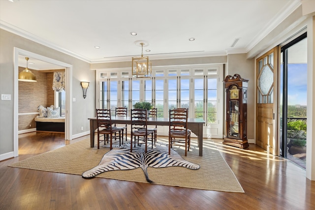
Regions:
M 19 74 L 19 55 L 24 57 L 30 57 L 36 60 L 41 60 L 44 62 L 52 63 L 55 65 L 63 66 L 65 68 L 66 83 L 65 89 L 69 90 L 66 92 L 66 114 L 65 114 L 65 139 L 72 140 L 72 103 L 70 99 L 72 97 L 71 87 L 72 87 L 72 65 L 50 59 L 26 50 L 19 48 L 14 48 L 14 156 L 18 156 L 18 74 Z

